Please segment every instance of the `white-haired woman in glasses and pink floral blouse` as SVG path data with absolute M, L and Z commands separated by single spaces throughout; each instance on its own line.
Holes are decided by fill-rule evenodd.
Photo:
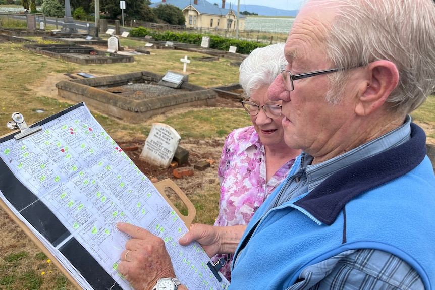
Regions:
M 252 126 L 234 130 L 225 141 L 217 169 L 221 198 L 214 225 L 247 224 L 300 154 L 284 142 L 282 101 L 267 98 L 269 85 L 285 63 L 284 44 L 273 44 L 255 49 L 240 65 L 240 84 L 247 95 L 242 104 Z M 213 260 L 219 258 L 225 259 L 221 272 L 230 280 L 232 255 Z

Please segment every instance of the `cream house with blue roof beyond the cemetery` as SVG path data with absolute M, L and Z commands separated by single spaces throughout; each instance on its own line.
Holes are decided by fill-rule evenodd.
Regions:
M 237 11 L 225 9 L 225 0 L 222 0 L 221 7 L 205 0 L 161 0 L 149 7 L 157 7 L 160 4 L 171 4 L 180 8 L 186 18 L 187 28 L 229 31 L 237 28 Z M 245 19 L 244 15 L 239 15 L 239 31 L 245 29 Z

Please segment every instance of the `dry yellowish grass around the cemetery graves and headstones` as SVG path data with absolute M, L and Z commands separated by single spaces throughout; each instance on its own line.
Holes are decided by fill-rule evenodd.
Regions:
M 37 39 L 36 39 L 37 40 Z M 38 40 L 37 40 L 38 41 Z M 121 45 L 141 46 L 142 43 L 128 42 Z M 131 41 L 131 40 L 129 40 Z M 41 42 L 42 43 L 42 42 Z M 106 48 L 104 48 L 106 49 Z M 165 74 L 167 70 L 181 72 L 184 55 L 203 57 L 199 53 L 178 50 L 151 50 L 151 55 L 135 56 L 135 62 L 110 65 L 77 65 L 59 59 L 52 59 L 24 50 L 22 44 L 0 42 L 0 136 L 10 132 L 5 126 L 11 114 L 19 111 L 26 122 L 33 124 L 49 115 L 59 112 L 74 103 L 57 95 L 55 84 L 69 80 L 66 73 L 85 72 L 95 76 L 115 75 L 148 70 Z M 229 60 L 217 62 L 192 61 L 188 65 L 189 82 L 203 87 L 228 85 L 238 82 L 238 68 Z M 44 110 L 42 113 L 36 110 Z M 412 114 L 416 123 L 428 135 L 428 143 L 435 144 L 435 97 Z M 175 128 L 182 140 L 180 146 L 189 151 L 189 163 L 205 159 L 215 160 L 204 171 L 195 170 L 195 175 L 177 180 L 172 170 L 161 170 L 140 163 L 149 178 L 172 178 L 188 195 L 195 205 L 194 222 L 212 224 L 217 215 L 219 183 L 217 162 L 219 162 L 226 135 L 232 129 L 251 124 L 240 104 L 219 99 L 216 107 L 183 108 L 157 115 L 141 124 L 128 124 L 110 118 L 96 108 L 90 107 L 94 117 L 118 143 L 137 143 L 139 149 L 128 152 L 130 158 L 140 163 L 138 155 L 153 122 L 166 123 Z M 127 152 L 126 152 L 127 153 Z M 148 166 L 148 167 L 146 167 Z M 139 165 L 138 165 L 139 167 Z M 170 194 L 170 199 L 185 214 L 182 202 Z M 53 265 L 39 248 L 24 234 L 21 228 L 0 209 L 0 290 L 12 289 L 75 289 L 74 285 Z

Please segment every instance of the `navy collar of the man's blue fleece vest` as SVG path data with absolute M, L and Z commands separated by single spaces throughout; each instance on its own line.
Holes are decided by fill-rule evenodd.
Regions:
M 337 171 L 294 204 L 331 225 L 350 200 L 417 167 L 426 156 L 425 143 L 423 129 L 411 123 L 407 142 Z

